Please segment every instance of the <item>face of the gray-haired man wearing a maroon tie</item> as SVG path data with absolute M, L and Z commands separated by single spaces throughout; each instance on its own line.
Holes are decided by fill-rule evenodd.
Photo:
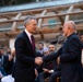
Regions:
M 31 20 L 31 21 L 26 24 L 26 30 L 27 30 L 31 34 L 35 34 L 35 33 L 36 33 L 36 28 L 37 28 L 37 22 L 36 22 L 36 20 Z

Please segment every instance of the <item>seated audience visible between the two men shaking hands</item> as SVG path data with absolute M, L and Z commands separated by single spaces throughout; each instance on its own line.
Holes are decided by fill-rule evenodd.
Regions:
M 38 43 L 38 50 L 42 57 L 48 56 L 50 54 L 55 54 L 57 51 L 57 47 L 55 44 L 49 44 L 44 48 L 43 43 Z M 60 66 L 58 63 L 58 59 L 44 62 L 42 66 L 36 67 L 38 71 L 37 82 L 45 82 L 48 79 L 48 82 L 57 82 L 57 78 L 60 77 Z

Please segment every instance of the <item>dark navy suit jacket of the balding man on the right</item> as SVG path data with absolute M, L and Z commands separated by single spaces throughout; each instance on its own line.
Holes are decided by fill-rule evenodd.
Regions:
M 48 61 L 60 56 L 61 82 L 82 81 L 81 48 L 81 42 L 73 33 L 56 54 L 44 58 L 45 61 Z

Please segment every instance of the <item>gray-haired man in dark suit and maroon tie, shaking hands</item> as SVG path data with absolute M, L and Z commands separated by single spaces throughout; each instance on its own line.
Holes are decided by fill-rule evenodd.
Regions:
M 24 21 L 25 30 L 15 39 L 16 60 L 13 77 L 15 82 L 34 82 L 35 63 L 40 60 L 35 58 L 35 39 L 32 36 L 36 33 L 37 21 L 28 15 Z

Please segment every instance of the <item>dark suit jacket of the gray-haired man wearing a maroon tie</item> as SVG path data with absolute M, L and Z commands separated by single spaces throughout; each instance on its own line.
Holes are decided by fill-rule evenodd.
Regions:
M 20 82 L 34 82 L 35 51 L 33 51 L 33 46 L 24 31 L 15 39 L 15 80 Z

